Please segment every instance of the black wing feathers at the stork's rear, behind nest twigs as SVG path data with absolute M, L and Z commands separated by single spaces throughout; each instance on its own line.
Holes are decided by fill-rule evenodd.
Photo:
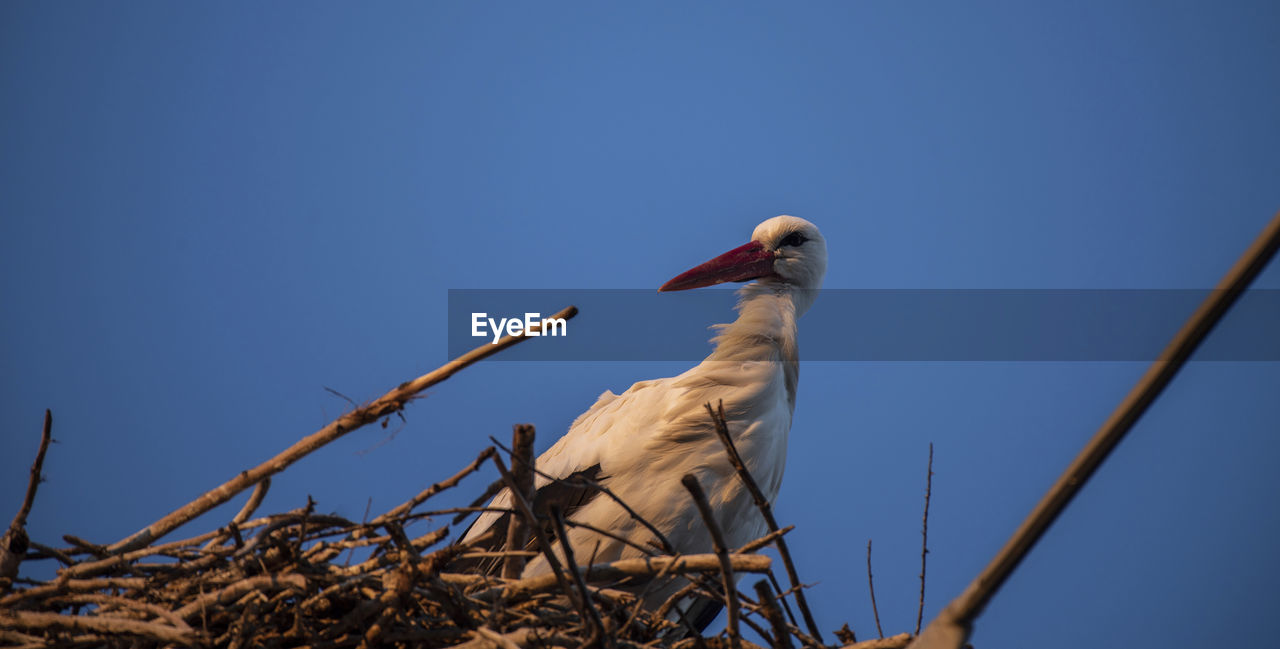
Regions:
M 575 471 L 568 477 L 554 480 L 548 483 L 541 489 L 534 494 L 532 509 L 534 516 L 538 517 L 543 535 L 547 539 L 554 538 L 554 531 L 552 527 L 552 507 L 558 506 L 564 517 L 568 518 L 577 509 L 585 507 L 588 503 L 600 497 L 600 490 L 593 486 L 593 483 L 600 483 L 605 476 L 600 475 L 600 465 L 593 465 L 581 471 Z M 494 504 L 499 502 L 511 503 L 511 492 L 504 489 L 497 498 L 494 498 Z M 480 522 L 481 518 L 476 518 L 467 527 L 467 531 L 462 534 L 463 539 L 479 538 L 480 540 L 471 547 L 472 552 L 502 552 L 507 548 L 507 526 L 511 525 L 511 512 L 503 512 L 489 525 L 486 534 L 483 538 L 474 535 L 472 529 Z M 536 540 L 530 535 L 529 543 L 521 549 L 534 549 L 536 548 Z M 502 557 L 484 557 L 477 559 L 467 559 L 456 562 L 452 568 L 462 570 L 466 572 L 475 572 L 479 575 L 495 575 L 502 570 Z

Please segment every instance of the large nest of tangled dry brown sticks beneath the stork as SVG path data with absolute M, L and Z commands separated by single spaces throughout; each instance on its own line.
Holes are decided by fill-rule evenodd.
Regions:
M 558 553 L 550 548 L 566 538 L 566 526 L 575 522 L 559 512 L 532 512 L 525 498 L 515 499 L 518 507 L 509 517 L 515 529 L 494 534 L 511 534 L 509 538 L 525 534 L 530 539 L 529 550 L 476 552 L 472 543 L 451 543 L 451 535 L 457 536 L 451 530 L 485 511 L 484 503 L 500 489 L 517 494 L 529 489 L 535 467 L 532 430 L 525 426 L 517 426 L 516 452 L 506 453 L 509 471 L 495 443 L 456 475 L 367 522 L 317 513 L 312 502 L 294 511 L 252 518 L 270 489 L 271 475 L 332 439 L 399 413 L 426 387 L 521 339 L 508 337 L 499 346 L 486 346 L 404 383 L 133 536 L 106 547 L 74 536 L 63 538 L 67 548 L 27 540 L 23 526 L 50 439 L 51 416 L 46 413 L 27 498 L 0 543 L 0 644 L 315 649 L 828 646 L 813 623 L 786 549 L 783 536 L 791 527 L 777 526 L 737 458 L 722 413 L 710 406 L 708 413 L 728 457 L 771 526 L 768 535 L 742 548 L 724 547 L 708 515 L 705 497 L 691 480 L 686 480 L 686 486 L 704 508 L 716 541 L 716 552 L 710 554 L 678 556 L 669 545 L 646 547 L 641 558 L 579 565 L 581 557 L 573 559 L 568 554 L 561 556 L 567 559 L 561 565 Z M 522 429 L 527 438 L 521 438 Z M 486 463 L 493 463 L 502 479 L 479 493 L 470 507 L 435 511 L 425 507 L 434 495 L 458 486 Z M 225 525 L 198 536 L 159 541 L 248 488 L 253 489 L 248 501 Z M 431 527 L 431 521 L 442 517 L 452 520 Z M 415 536 L 406 531 L 424 527 L 426 531 Z M 768 545 L 777 548 L 790 588 L 782 588 L 774 562 L 758 554 Z M 500 576 L 521 575 L 524 562 L 535 554 L 547 557 L 554 573 L 526 579 Z M 58 561 L 61 567 L 49 581 L 22 579 L 18 567 L 24 559 Z M 474 570 L 477 562 L 502 570 L 477 573 Z M 466 566 L 471 570 L 462 570 Z M 741 577 L 753 584 L 754 597 L 739 591 L 736 584 Z M 680 580 L 684 588 L 658 609 L 643 605 L 646 588 L 664 580 L 668 584 Z M 698 598 L 726 607 L 727 629 L 703 635 L 684 618 L 686 603 Z M 754 632 L 755 643 L 742 637 L 748 629 Z M 836 636 L 841 645 L 855 641 L 847 626 Z M 909 640 L 908 634 L 900 634 L 855 646 L 888 649 L 905 646 Z

